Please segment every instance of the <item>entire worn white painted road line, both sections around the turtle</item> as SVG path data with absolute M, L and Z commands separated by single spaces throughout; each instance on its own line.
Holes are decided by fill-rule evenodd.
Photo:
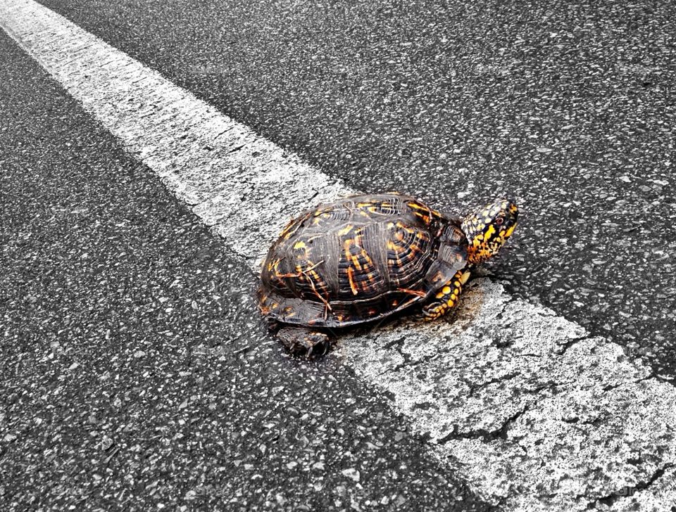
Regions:
M 0 26 L 253 268 L 289 215 L 351 192 L 34 1 L 5 0 Z M 455 321 L 336 354 L 508 510 L 676 504 L 676 390 L 496 283 L 475 281 Z

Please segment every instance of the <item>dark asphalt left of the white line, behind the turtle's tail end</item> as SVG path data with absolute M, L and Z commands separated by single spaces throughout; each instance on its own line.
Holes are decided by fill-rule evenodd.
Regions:
M 489 510 L 0 33 L 0 510 Z

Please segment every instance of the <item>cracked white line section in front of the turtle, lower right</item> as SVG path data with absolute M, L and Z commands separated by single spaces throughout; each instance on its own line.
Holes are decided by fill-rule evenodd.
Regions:
M 676 503 L 672 385 L 500 283 L 472 281 L 447 324 L 397 321 L 344 340 L 342 353 L 508 510 Z

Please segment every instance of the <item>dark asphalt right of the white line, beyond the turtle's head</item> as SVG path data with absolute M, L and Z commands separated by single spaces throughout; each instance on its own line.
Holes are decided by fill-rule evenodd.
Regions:
M 676 5 L 43 0 L 324 172 L 461 213 L 489 268 L 676 374 Z

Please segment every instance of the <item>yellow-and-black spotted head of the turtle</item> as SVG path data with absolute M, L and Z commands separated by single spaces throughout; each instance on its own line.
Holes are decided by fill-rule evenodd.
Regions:
M 468 261 L 477 264 L 495 255 L 514 232 L 518 214 L 514 201 L 498 199 L 465 217 L 462 229 L 469 242 Z

